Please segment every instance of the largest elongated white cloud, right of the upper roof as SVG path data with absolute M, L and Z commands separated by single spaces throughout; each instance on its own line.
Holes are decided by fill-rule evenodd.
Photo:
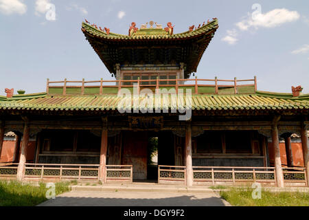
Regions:
M 297 11 L 290 11 L 285 8 L 276 8 L 265 14 L 259 13 L 253 16 L 249 15 L 247 19 L 244 19 L 238 23 L 236 26 L 240 30 L 248 30 L 249 28 L 258 29 L 262 28 L 275 28 L 283 23 L 288 23 L 292 21 L 297 21 L 300 15 Z

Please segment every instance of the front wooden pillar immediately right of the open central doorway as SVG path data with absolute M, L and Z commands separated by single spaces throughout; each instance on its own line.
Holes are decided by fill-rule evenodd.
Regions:
M 185 173 L 187 186 L 193 184 L 193 169 L 192 169 L 192 128 L 191 123 L 188 123 L 185 129 Z

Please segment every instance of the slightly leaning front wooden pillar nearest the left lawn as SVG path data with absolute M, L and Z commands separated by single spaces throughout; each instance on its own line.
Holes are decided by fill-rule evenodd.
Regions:
M 23 181 L 25 175 L 25 163 L 27 159 L 27 145 L 29 141 L 29 120 L 25 120 L 23 128 L 23 142 L 21 144 L 21 156 L 19 157 L 19 166 L 17 168 L 17 180 Z

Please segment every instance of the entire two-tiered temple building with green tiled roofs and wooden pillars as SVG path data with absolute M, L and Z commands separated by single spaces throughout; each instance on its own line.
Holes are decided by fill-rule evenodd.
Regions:
M 82 22 L 113 80 L 5 89 L 0 178 L 308 186 L 309 94 L 259 91 L 255 76 L 194 77 L 217 29 L 216 18 L 179 34 L 170 22 L 133 22 L 128 34 Z

